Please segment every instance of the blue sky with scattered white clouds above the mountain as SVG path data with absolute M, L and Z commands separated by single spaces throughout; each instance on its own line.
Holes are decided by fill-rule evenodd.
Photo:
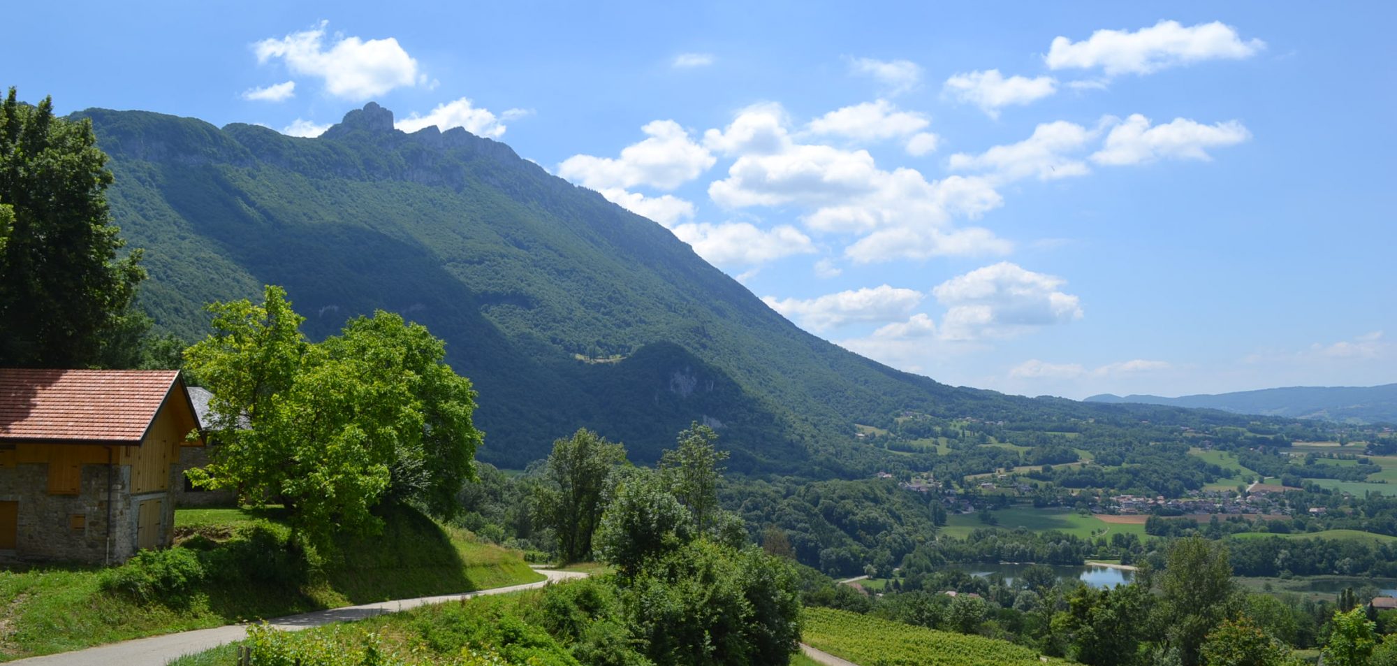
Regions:
M 25 3 L 0 83 L 461 125 L 949 383 L 1397 382 L 1397 6 L 666 4 Z

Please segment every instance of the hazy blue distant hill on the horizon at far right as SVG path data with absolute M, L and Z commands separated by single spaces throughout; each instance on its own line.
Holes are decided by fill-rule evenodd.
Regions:
M 1291 386 L 1236 393 L 1160 396 L 1091 396 L 1090 403 L 1147 403 L 1204 407 L 1238 414 L 1324 418 L 1343 423 L 1397 423 L 1397 383 L 1382 386 Z

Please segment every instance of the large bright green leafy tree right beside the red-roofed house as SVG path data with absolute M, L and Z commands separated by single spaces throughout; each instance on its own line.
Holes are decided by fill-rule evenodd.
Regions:
M 376 530 L 370 509 L 386 498 L 451 513 L 481 432 L 475 392 L 441 362 L 443 343 L 377 312 L 312 344 L 285 291 L 264 295 L 210 305 L 214 333 L 187 350 L 214 395 L 217 442 L 194 483 L 281 502 L 319 543 L 338 527 Z

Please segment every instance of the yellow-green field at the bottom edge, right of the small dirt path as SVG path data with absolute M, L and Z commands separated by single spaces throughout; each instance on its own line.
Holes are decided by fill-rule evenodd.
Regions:
M 1041 666 L 1069 663 L 1042 659 L 1037 651 L 978 635 L 933 631 L 845 610 L 807 607 L 806 644 L 862 665 Z

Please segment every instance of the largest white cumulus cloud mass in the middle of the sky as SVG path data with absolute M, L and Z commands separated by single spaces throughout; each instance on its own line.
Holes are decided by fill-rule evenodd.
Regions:
M 988 180 L 928 182 L 915 169 L 884 171 L 866 150 L 800 143 L 788 123 L 778 105 L 766 104 L 743 109 L 724 130 L 708 130 L 704 146 L 736 155 L 728 176 L 708 185 L 710 199 L 731 208 L 796 206 L 812 229 L 880 234 L 847 248 L 856 262 L 1007 252 L 1009 243 L 986 229 L 951 225 L 1002 204 Z

